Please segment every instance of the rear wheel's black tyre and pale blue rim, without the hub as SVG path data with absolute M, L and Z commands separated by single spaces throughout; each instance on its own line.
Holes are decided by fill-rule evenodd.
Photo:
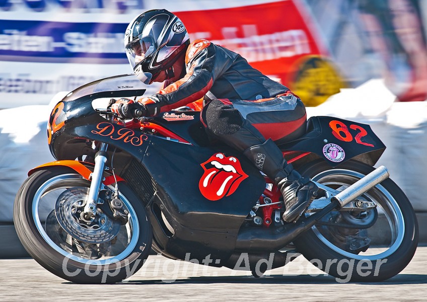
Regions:
M 343 185 L 343 183 L 349 185 L 373 170 L 374 168 L 356 161 L 348 161 L 335 168 L 331 168 L 324 161 L 318 161 L 309 163 L 300 169 L 304 176 L 309 176 L 314 181 L 327 186 L 333 186 L 334 182 L 335 186 Z M 342 183 L 340 183 L 341 179 Z M 337 183 L 339 184 L 336 185 Z M 333 242 L 335 240 L 339 242 L 338 236 L 334 237 L 334 231 L 339 232 L 339 229 L 342 230 L 342 228 L 327 226 L 325 229 L 325 226 L 317 224 L 294 241 L 295 246 L 305 258 L 316 263 L 326 273 L 337 277 L 337 281 L 340 282 L 372 282 L 391 278 L 408 265 L 417 247 L 418 224 L 414 210 L 406 195 L 391 179 L 386 179 L 364 196 L 369 196 L 368 198 L 381 206 L 378 209 L 378 220 L 367 229 L 367 232 L 368 234 L 371 232 L 371 246 L 376 240 L 377 250 L 386 249 L 385 251 L 376 252 L 374 249 L 374 252 L 370 253 L 371 248 L 375 247 L 370 246 L 366 253 L 352 254 L 326 239 L 328 234 Z M 373 229 L 376 231 L 372 231 Z M 381 244 L 381 239 L 375 237 L 375 234 L 378 233 L 380 233 L 378 238 L 389 236 L 390 243 Z

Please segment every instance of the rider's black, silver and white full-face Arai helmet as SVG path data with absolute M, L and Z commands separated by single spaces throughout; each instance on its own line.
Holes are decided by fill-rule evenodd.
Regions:
M 153 83 L 162 70 L 169 69 L 189 44 L 184 24 L 167 10 L 139 15 L 124 34 L 127 59 L 136 77 L 145 84 Z

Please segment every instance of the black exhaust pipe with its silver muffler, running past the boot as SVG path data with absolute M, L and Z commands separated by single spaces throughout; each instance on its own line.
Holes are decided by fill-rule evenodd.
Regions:
M 247 253 L 274 252 L 290 244 L 300 234 L 312 228 L 324 215 L 339 209 L 354 198 L 366 193 L 390 176 L 386 167 L 381 166 L 361 178 L 344 191 L 331 198 L 331 202 L 319 212 L 299 219 L 296 223 L 288 223 L 277 229 L 261 229 L 257 226 L 240 229 L 237 235 L 235 251 Z

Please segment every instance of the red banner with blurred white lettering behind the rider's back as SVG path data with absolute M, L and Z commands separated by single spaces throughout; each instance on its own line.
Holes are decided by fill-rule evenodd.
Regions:
M 294 1 L 176 14 L 191 40 L 203 38 L 227 47 L 281 80 L 299 58 L 320 54 Z

